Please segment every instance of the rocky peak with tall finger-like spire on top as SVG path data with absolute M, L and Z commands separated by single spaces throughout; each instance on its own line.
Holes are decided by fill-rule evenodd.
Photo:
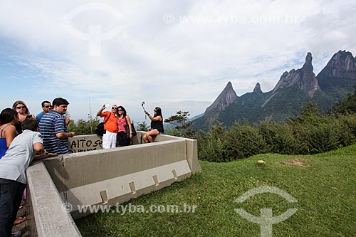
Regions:
M 292 69 L 289 73 L 284 72 L 283 75 L 281 75 L 276 87 L 273 89 L 273 95 L 278 93 L 278 90 L 296 85 L 299 90 L 308 93 L 310 98 L 313 98 L 313 95 L 315 91 L 318 90 L 319 85 L 318 80 L 313 73 L 312 60 L 312 54 L 307 53 L 305 63 L 302 68 L 298 70 Z

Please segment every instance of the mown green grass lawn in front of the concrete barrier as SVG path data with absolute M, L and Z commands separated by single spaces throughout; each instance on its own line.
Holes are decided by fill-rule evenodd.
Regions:
M 263 159 L 266 164 L 258 165 Z M 298 159 L 305 167 L 286 164 Z M 236 214 L 244 208 L 273 216 L 298 211 L 273 225 L 273 236 L 356 236 L 356 145 L 325 154 L 260 154 L 227 163 L 200 162 L 202 172 L 165 189 L 127 202 L 131 205 L 197 205 L 194 213 L 98 213 L 76 222 L 83 236 L 260 236 L 260 226 Z M 298 203 L 277 194 L 234 200 L 268 185 L 287 191 Z

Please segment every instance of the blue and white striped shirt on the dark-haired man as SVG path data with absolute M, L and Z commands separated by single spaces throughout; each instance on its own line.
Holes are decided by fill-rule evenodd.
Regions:
M 59 139 L 56 137 L 58 133 L 68 132 L 63 115 L 56 110 L 50 110 L 46 115 L 43 115 L 40 121 L 40 132 L 46 152 L 56 154 L 68 153 L 68 138 Z

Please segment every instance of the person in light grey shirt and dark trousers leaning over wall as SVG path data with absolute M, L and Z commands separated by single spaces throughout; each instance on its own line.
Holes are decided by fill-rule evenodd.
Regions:
M 32 160 L 56 155 L 45 151 L 36 118 L 27 117 L 21 127 L 23 133 L 14 138 L 0 159 L 0 236 L 11 236 Z

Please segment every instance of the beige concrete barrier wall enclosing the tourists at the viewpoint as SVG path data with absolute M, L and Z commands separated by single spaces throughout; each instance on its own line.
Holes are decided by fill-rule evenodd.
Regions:
M 155 142 L 141 144 L 142 135 L 137 132 L 131 146 L 112 149 L 102 149 L 96 135 L 75 136 L 69 139 L 70 154 L 29 167 L 30 233 L 80 236 L 72 218 L 91 214 L 82 207 L 122 204 L 201 172 L 197 140 L 158 135 Z

